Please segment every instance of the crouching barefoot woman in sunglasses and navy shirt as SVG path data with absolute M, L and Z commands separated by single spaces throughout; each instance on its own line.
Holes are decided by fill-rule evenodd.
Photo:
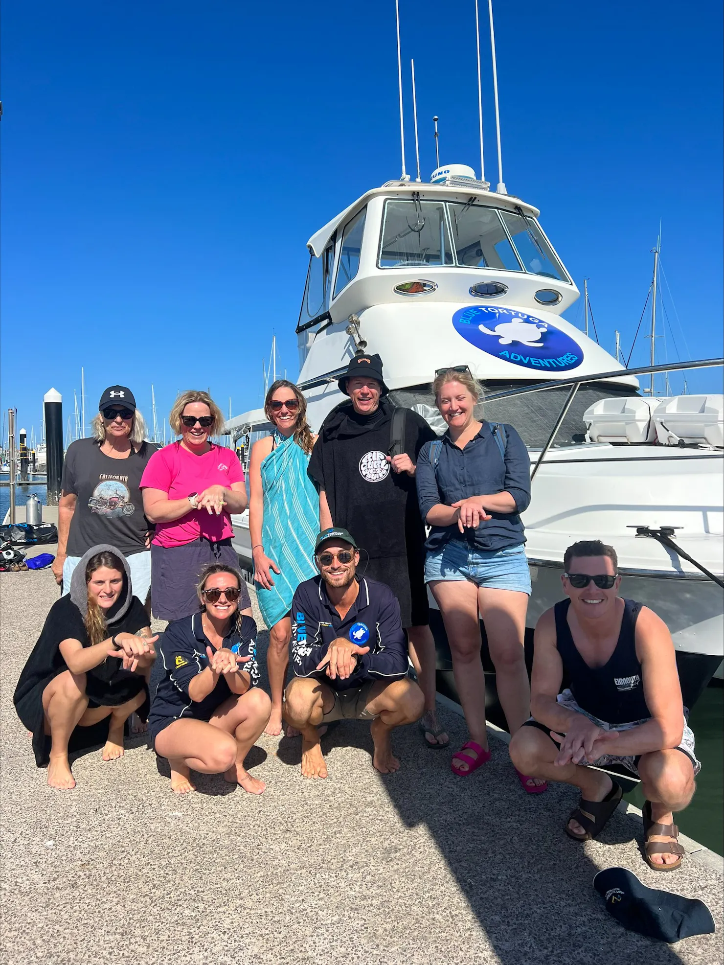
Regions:
M 201 613 L 170 623 L 159 652 L 165 675 L 156 688 L 148 731 L 156 754 L 168 758 L 177 794 L 195 790 L 191 771 L 224 774 L 252 794 L 266 785 L 244 768 L 271 702 L 256 687 L 256 624 L 238 609 L 241 573 L 210 564 L 198 587 Z

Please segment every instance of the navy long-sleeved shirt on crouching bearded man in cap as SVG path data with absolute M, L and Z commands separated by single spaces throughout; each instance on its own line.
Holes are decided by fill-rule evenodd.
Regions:
M 385 583 L 360 580 L 360 592 L 342 620 L 321 576 L 300 583 L 291 605 L 291 658 L 295 676 L 314 676 L 333 690 L 361 687 L 367 680 L 407 676 L 407 638 L 400 604 Z M 333 640 L 344 637 L 369 652 L 357 657 L 354 673 L 331 680 L 319 664 Z

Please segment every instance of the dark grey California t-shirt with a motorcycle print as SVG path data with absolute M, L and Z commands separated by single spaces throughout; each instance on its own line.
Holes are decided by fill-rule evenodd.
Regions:
M 63 491 L 76 497 L 67 537 L 68 556 L 83 556 L 98 543 L 116 546 L 123 556 L 147 548 L 149 524 L 138 484 L 157 448 L 144 442 L 137 453 L 114 459 L 101 453 L 94 439 L 70 443 L 61 482 Z

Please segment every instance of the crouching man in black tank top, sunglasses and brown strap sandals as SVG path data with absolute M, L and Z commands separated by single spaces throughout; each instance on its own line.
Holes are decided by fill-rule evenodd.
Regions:
M 510 757 L 524 774 L 580 788 L 566 834 L 588 841 L 603 830 L 622 790 L 587 766 L 623 764 L 641 779 L 647 864 L 678 868 L 684 848 L 672 812 L 693 797 L 701 765 L 684 719 L 676 655 L 666 624 L 618 595 L 613 547 L 569 546 L 561 577 L 568 599 L 538 620 L 530 685 L 532 717 Z M 569 688 L 559 693 L 564 674 Z

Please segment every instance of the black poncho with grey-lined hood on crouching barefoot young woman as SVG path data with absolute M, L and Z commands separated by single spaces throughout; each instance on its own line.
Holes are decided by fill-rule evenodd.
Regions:
M 121 596 L 106 614 L 108 635 L 136 633 L 148 626 L 149 619 L 141 601 L 132 594 L 130 570 L 125 557 L 114 547 L 106 544 L 94 546 L 73 570 L 70 593 L 57 600 L 45 618 L 38 643 L 28 657 L 15 687 L 13 703 L 23 725 L 33 733 L 33 753 L 39 767 L 47 764 L 50 737 L 44 731 L 42 692 L 48 683 L 67 670 L 60 651 L 64 640 L 79 640 L 83 647 L 90 647 L 85 623 L 88 612 L 88 588 L 86 566 L 96 553 L 114 553 L 123 564 L 124 579 Z M 146 702 L 137 713 L 146 719 L 148 712 L 148 688 L 140 674 L 123 670 L 121 659 L 108 657 L 98 667 L 86 673 L 86 694 L 89 706 L 114 707 L 130 701 L 141 690 L 146 690 Z M 70 737 L 70 751 L 84 750 L 102 743 L 108 735 L 108 720 L 92 727 L 76 727 Z

